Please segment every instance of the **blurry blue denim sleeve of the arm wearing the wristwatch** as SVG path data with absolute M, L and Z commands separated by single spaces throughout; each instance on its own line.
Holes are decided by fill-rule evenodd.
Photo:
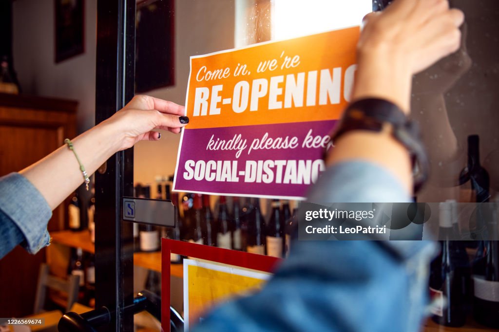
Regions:
M 364 161 L 328 168 L 308 197 L 329 203 L 410 201 L 397 178 Z M 434 247 L 428 241 L 380 242 L 294 239 L 289 257 L 260 292 L 221 305 L 194 331 L 420 331 L 425 266 Z

